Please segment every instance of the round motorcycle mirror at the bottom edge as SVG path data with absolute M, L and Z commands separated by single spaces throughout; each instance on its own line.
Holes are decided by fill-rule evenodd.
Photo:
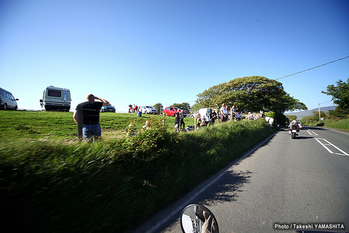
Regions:
M 214 214 L 198 204 L 191 204 L 183 209 L 181 228 L 184 233 L 219 233 Z

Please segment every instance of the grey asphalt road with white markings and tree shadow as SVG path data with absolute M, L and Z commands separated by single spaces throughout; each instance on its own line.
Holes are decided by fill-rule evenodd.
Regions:
M 292 139 L 279 131 L 217 175 L 134 232 L 182 232 L 188 202 L 208 207 L 220 232 L 280 231 L 275 224 L 315 230 L 318 223 L 345 228 L 317 230 L 349 231 L 349 134 L 306 127 Z

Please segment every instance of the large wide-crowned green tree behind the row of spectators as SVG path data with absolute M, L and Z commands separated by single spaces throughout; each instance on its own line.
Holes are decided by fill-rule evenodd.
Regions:
M 307 110 L 304 103 L 287 94 L 282 83 L 260 76 L 237 78 L 212 86 L 198 95 L 201 107 L 220 107 L 235 104 L 241 111 L 283 113 Z

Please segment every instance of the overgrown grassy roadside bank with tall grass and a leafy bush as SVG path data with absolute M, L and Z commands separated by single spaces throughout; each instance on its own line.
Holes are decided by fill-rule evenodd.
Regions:
M 264 119 L 190 133 L 169 131 L 161 118 L 152 126 L 92 144 L 2 144 L 3 221 L 14 231 L 127 231 L 274 131 Z

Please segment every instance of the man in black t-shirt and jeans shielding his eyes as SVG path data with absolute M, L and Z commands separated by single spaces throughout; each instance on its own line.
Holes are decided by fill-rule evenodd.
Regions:
M 95 102 L 94 100 L 96 99 L 101 100 L 102 102 Z M 84 139 L 91 140 L 92 136 L 97 139 L 102 135 L 100 126 L 100 111 L 102 106 L 107 106 L 109 102 L 100 97 L 95 97 L 92 94 L 88 94 L 86 96 L 86 100 L 86 102 L 80 103 L 76 106 L 73 118 L 77 123 L 76 110 L 79 107 L 82 107 Z

